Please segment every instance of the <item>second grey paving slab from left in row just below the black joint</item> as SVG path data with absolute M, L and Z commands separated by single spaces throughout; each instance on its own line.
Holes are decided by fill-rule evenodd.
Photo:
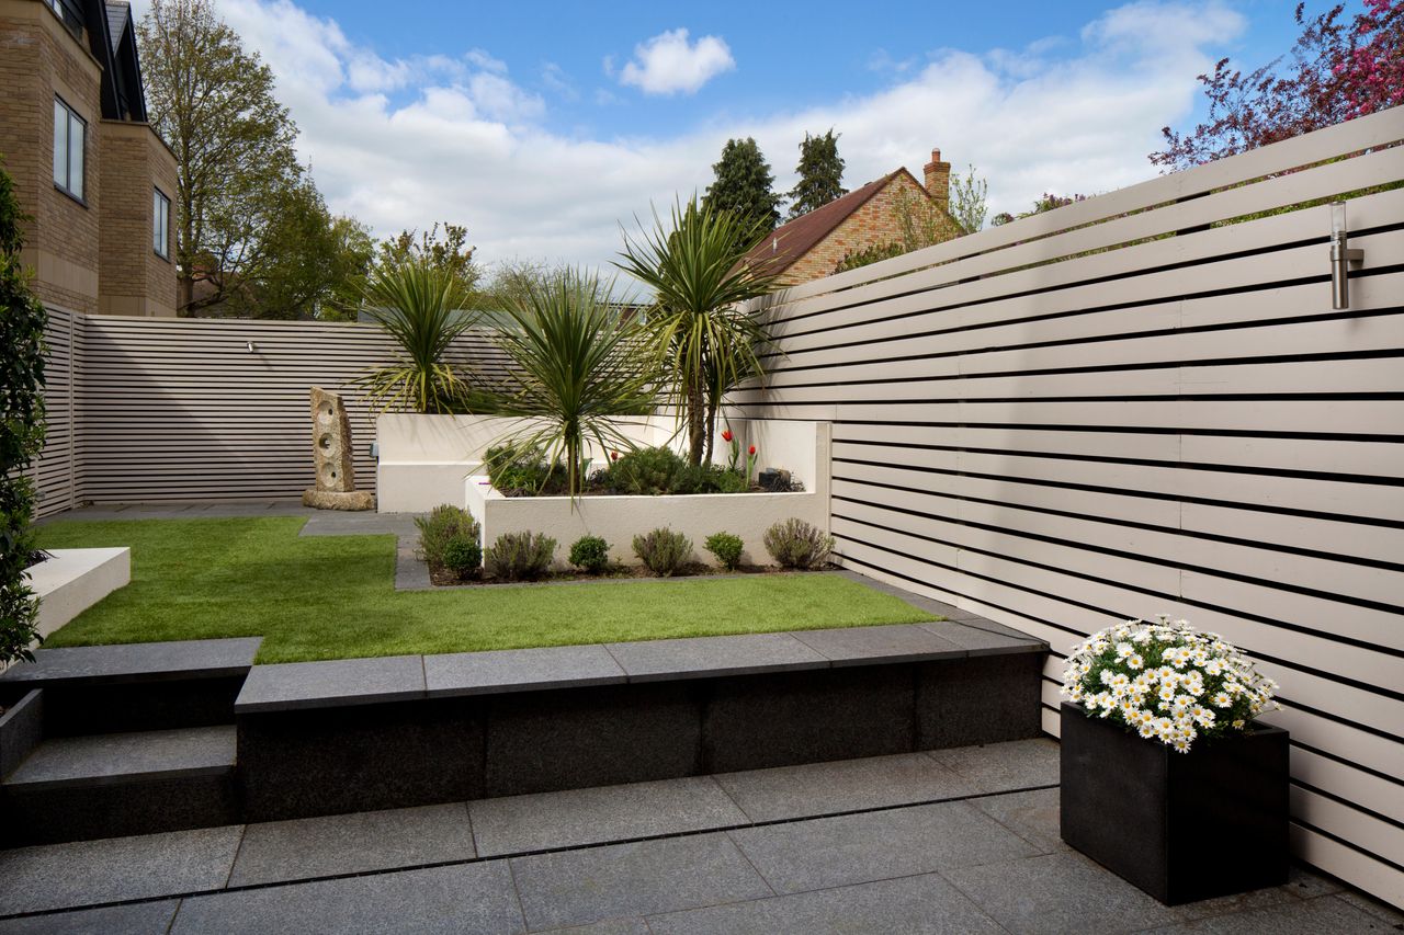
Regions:
M 181 903 L 171 927 L 171 935 L 521 931 L 503 861 L 199 896 Z

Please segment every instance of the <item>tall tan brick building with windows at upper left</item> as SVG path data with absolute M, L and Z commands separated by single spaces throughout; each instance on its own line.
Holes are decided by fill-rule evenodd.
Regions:
M 126 3 L 0 0 L 0 153 L 34 218 L 34 292 L 174 316 L 176 156 L 146 122 Z

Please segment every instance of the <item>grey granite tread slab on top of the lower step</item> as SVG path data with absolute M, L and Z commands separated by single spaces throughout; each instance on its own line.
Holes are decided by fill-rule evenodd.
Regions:
M 131 734 L 51 737 L 29 754 L 6 786 L 51 789 L 132 779 L 176 779 L 227 772 L 234 765 L 233 724 Z

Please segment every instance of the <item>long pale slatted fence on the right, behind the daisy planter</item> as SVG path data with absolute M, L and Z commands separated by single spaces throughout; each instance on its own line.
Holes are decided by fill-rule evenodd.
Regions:
M 1092 630 L 1241 644 L 1283 687 L 1293 847 L 1396 904 L 1400 138 L 1404 108 L 797 286 L 736 399 L 834 421 L 844 564 L 1049 640 L 1052 733 Z M 1273 209 L 1346 194 L 1365 265 L 1334 312 L 1328 208 Z

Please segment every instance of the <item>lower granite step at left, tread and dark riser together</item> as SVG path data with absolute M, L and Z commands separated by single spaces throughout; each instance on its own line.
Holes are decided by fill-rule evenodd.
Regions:
M 233 724 L 51 737 L 6 778 L 4 845 L 239 820 Z

